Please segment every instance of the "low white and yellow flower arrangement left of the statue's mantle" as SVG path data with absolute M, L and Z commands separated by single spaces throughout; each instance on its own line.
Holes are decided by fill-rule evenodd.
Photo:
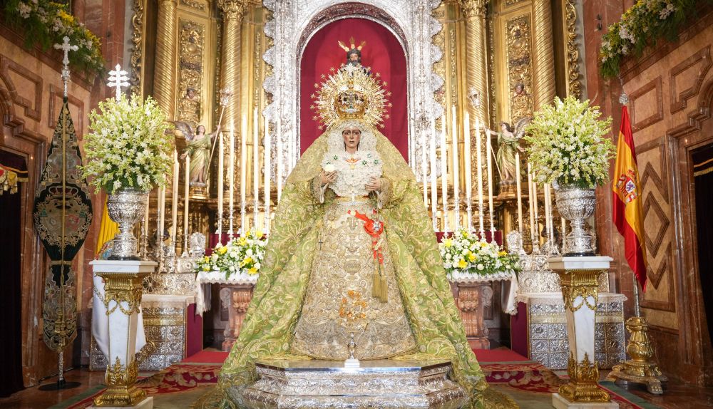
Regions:
M 204 256 L 196 263 L 198 271 L 221 271 L 225 279 L 232 274 L 257 274 L 265 257 L 267 239 L 262 232 L 248 230 L 227 244 L 216 244 L 210 256 Z

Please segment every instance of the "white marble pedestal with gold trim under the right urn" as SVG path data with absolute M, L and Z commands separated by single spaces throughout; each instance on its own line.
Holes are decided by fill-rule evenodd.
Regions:
M 599 367 L 595 361 L 595 322 L 599 304 L 597 277 L 609 269 L 611 257 L 554 257 L 548 259 L 552 271 L 560 276 L 560 287 L 565 304 L 567 335 L 570 346 L 567 373 L 570 380 L 553 395 L 553 404 L 560 398 L 582 408 L 583 403 L 611 403 L 609 394 L 599 388 Z M 574 406 L 574 404 L 580 406 Z M 557 407 L 557 406 L 555 406 Z M 585 406 L 588 407 L 588 406 Z

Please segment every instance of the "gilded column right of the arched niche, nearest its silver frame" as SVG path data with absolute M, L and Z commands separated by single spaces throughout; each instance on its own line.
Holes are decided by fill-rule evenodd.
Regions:
M 471 125 L 475 118 L 486 121 L 488 115 L 488 68 L 486 58 L 486 4 L 487 0 L 460 0 L 466 16 L 466 86 L 468 93 L 476 90 L 481 103 L 478 108 L 468 103 Z

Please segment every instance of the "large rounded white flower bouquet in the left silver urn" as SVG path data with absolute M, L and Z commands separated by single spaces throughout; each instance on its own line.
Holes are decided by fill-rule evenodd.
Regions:
M 85 136 L 84 177 L 96 190 L 110 195 L 122 188 L 148 192 L 165 185 L 173 159 L 173 137 L 166 135 L 166 115 L 151 97 L 123 95 L 99 103 L 101 113 L 92 110 Z

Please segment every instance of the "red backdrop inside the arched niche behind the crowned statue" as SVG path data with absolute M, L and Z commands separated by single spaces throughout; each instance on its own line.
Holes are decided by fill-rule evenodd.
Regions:
M 307 43 L 302 54 L 300 85 L 300 150 L 304 152 L 315 139 L 322 134 L 319 122 L 313 120 L 315 111 L 310 95 L 314 93 L 314 83 L 321 83 L 320 76 L 329 76 L 329 68 L 339 68 L 347 61 L 347 53 L 339 48 L 337 41 L 349 43 L 354 37 L 358 46 L 361 41 L 366 45 L 361 49 L 361 64 L 371 67 L 373 73 L 380 73 L 386 81 L 386 91 L 391 92 L 389 102 L 393 107 L 386 109 L 389 119 L 384 120 L 380 131 L 394 143 L 396 149 L 409 160 L 408 115 L 406 103 L 406 55 L 404 48 L 391 31 L 381 24 L 366 19 L 343 19 L 327 24 L 317 31 Z

